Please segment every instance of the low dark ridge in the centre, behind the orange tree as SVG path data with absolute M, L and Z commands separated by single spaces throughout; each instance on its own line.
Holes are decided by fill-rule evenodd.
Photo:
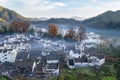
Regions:
M 49 24 L 54 23 L 58 25 L 58 27 L 77 27 L 81 25 L 81 21 L 77 21 L 75 19 L 68 18 L 50 18 L 48 20 L 39 20 L 39 21 L 31 21 L 32 25 L 37 25 L 37 27 L 47 28 Z

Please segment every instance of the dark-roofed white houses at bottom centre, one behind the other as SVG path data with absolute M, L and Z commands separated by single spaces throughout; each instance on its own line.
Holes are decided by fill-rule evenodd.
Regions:
M 65 56 L 63 51 L 52 51 L 45 55 L 45 67 L 43 68 L 43 72 L 49 75 L 59 76 L 59 63 L 61 59 L 64 59 L 63 56 Z

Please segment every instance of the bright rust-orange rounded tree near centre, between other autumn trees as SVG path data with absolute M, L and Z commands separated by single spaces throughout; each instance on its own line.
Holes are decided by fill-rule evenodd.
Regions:
M 48 32 L 50 36 L 55 37 L 58 34 L 58 27 L 55 24 L 49 24 Z

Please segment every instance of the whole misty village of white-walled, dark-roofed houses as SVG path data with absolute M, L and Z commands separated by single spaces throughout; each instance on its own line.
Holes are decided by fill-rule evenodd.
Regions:
M 12 79 L 48 79 L 60 75 L 61 62 L 69 69 L 99 68 L 105 55 L 95 48 L 104 43 L 100 35 L 86 33 L 81 42 L 48 40 L 35 34 L 12 34 L 0 39 L 0 76 Z

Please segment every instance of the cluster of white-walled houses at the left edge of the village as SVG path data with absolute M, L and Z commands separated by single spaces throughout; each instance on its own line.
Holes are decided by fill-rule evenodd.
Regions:
M 23 35 L 12 35 L 1 38 L 0 43 L 0 61 L 15 62 L 17 53 L 27 50 L 31 46 L 27 44 L 27 37 Z

